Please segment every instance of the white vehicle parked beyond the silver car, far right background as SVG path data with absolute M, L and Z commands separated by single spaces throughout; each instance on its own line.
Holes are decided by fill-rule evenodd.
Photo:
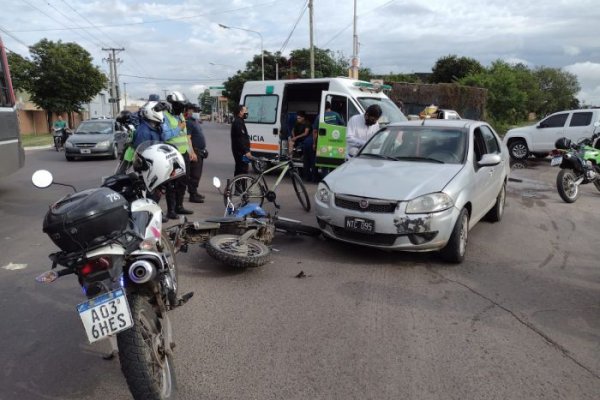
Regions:
M 530 154 L 545 157 L 554 150 L 558 138 L 568 137 L 577 142 L 592 137 L 594 123 L 599 120 L 600 109 L 560 111 L 535 125 L 510 129 L 504 136 L 504 143 L 514 159 L 522 160 Z

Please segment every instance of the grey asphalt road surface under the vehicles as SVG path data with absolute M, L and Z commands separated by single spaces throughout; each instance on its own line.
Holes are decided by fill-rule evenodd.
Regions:
M 228 126 L 204 129 L 197 219 L 223 212 L 210 178 L 233 173 Z M 56 250 L 42 219 L 70 189 L 36 189 L 31 173 L 84 189 L 114 166 L 33 150 L 0 180 L 0 399 L 129 398 L 108 345 L 87 343 L 75 278 L 34 281 Z M 459 266 L 279 236 L 270 264 L 235 271 L 190 247 L 180 281 L 196 295 L 172 316 L 180 398 L 598 399 L 600 192 L 566 204 L 557 172 L 548 160 L 513 170 L 504 219 L 470 232 Z M 281 214 L 315 225 L 289 186 Z

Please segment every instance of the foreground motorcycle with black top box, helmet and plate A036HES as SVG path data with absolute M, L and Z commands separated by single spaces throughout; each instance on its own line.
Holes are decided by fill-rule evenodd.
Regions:
M 43 231 L 61 251 L 50 255 L 51 270 L 36 279 L 50 283 L 76 275 L 88 298 L 77 311 L 89 342 L 108 338 L 115 346 L 116 336 L 113 351 L 133 398 L 164 400 L 175 393 L 167 311 L 193 293 L 178 296 L 175 249 L 162 229 L 161 208 L 145 193 L 181 176 L 185 164 L 171 146 L 151 143 L 140 146 L 134 163 L 137 172 L 75 190 L 50 206 Z M 40 170 L 32 181 L 44 188 L 53 177 Z

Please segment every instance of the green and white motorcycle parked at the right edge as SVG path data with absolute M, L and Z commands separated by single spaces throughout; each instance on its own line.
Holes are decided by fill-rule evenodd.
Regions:
M 596 127 L 600 126 L 598 122 Z M 593 183 L 600 191 L 600 150 L 593 147 L 600 133 L 572 143 L 566 137 L 556 141 L 552 153 L 551 166 L 561 168 L 556 177 L 556 188 L 560 197 L 567 203 L 574 203 L 579 197 L 579 186 Z

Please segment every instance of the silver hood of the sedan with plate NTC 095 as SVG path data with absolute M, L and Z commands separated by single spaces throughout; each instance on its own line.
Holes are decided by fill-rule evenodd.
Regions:
M 357 158 L 324 179 L 334 193 L 386 200 L 410 200 L 441 191 L 462 164 Z

